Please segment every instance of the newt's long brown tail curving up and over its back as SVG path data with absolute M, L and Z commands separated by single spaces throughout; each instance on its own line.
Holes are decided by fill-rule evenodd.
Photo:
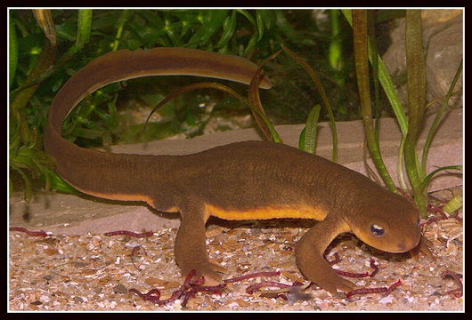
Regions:
M 136 186 L 129 185 L 129 175 L 142 172 L 138 168 L 142 164 L 136 164 L 135 155 L 80 148 L 61 137 L 62 122 L 80 100 L 104 85 L 140 76 L 208 76 L 250 84 L 256 69 L 256 64 L 244 58 L 196 49 L 154 48 L 107 53 L 77 71 L 55 96 L 45 127 L 45 151 L 55 158 L 56 172 L 85 193 L 107 197 L 103 195 L 126 192 L 126 188 L 132 190 Z M 269 89 L 272 84 L 264 76 L 260 86 Z M 166 156 L 159 159 L 164 161 L 160 167 L 168 170 L 165 164 L 172 162 L 171 159 Z M 157 158 L 149 161 L 155 163 Z

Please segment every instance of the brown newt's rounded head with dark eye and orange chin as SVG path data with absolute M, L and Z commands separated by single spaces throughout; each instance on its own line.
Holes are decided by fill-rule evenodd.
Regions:
M 408 252 L 419 244 L 419 209 L 403 196 L 370 198 L 344 216 L 355 236 L 379 250 Z

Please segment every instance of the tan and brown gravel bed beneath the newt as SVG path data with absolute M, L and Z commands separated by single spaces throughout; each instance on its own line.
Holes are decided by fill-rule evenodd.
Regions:
M 305 223 L 305 222 L 304 222 Z M 134 236 L 28 236 L 10 232 L 9 309 L 11 311 L 126 310 L 126 311 L 360 311 L 360 310 L 449 310 L 463 311 L 463 297 L 447 293 L 458 288 L 457 279 L 445 276 L 463 274 L 462 222 L 450 217 L 430 223 L 425 236 L 435 244 L 436 260 L 422 253 L 418 260 L 409 253 L 378 252 L 354 236 L 339 236 L 327 251 L 333 266 L 353 273 L 371 273 L 370 258 L 378 274 L 351 278 L 366 288 L 402 284 L 387 296 L 382 293 L 354 295 L 330 293 L 316 287 L 288 292 L 249 294 L 249 285 L 262 281 L 293 284 L 307 281 L 297 270 L 294 245 L 306 228 L 286 228 L 284 220 L 272 220 L 256 227 L 208 228 L 210 258 L 228 268 L 225 278 L 262 271 L 281 271 L 280 276 L 261 276 L 227 286 L 218 293 L 197 292 L 183 307 L 183 298 L 166 305 L 142 300 L 130 289 L 149 292 L 158 288 L 166 300 L 183 284 L 175 265 L 173 245 L 176 229 L 154 230 L 150 237 Z M 299 224 L 303 226 L 303 223 Z M 306 225 L 306 223 L 305 223 Z M 285 226 L 285 227 L 284 227 Z M 136 248 L 140 246 L 139 248 Z M 136 249 L 134 249 L 136 248 Z M 455 292 L 459 295 L 459 292 Z M 262 296 L 261 296 L 262 294 Z M 286 298 L 287 300 L 285 300 Z

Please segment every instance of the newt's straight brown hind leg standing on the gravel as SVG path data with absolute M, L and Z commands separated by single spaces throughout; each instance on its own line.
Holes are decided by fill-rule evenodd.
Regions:
M 182 206 L 182 223 L 175 238 L 174 254 L 177 265 L 186 276 L 192 269 L 197 276 L 205 277 L 206 285 L 220 284 L 220 273 L 228 271 L 216 262 L 208 259 L 206 248 L 205 223 L 208 217 L 204 211 L 204 204 L 198 200 L 188 200 Z

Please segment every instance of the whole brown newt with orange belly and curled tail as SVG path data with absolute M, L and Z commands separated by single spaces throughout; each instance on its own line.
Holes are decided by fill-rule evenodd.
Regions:
M 334 294 L 355 285 L 330 268 L 323 252 L 351 231 L 386 252 L 419 249 L 419 210 L 361 173 L 280 143 L 244 141 L 185 156 L 112 154 L 80 148 L 61 137 L 61 126 L 87 94 L 138 76 L 210 76 L 249 84 L 256 65 L 240 57 L 183 48 L 110 52 L 69 78 L 57 93 L 45 127 L 45 150 L 70 185 L 92 196 L 143 201 L 180 212 L 175 261 L 186 275 L 195 269 L 207 284 L 227 270 L 208 259 L 205 224 L 224 220 L 303 218 L 321 220 L 296 245 L 297 266 Z M 272 84 L 264 76 L 260 84 Z

